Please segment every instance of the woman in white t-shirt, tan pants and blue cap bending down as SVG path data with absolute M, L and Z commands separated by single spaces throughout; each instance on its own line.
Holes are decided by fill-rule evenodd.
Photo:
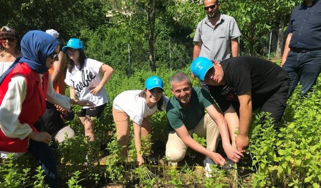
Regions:
M 117 140 L 121 146 L 124 146 L 121 152 L 122 157 L 127 157 L 130 119 L 134 130 L 136 162 L 139 166 L 145 162 L 141 154 L 140 137 L 148 139 L 147 136 L 151 131 L 149 118 L 157 110 L 166 110 L 169 101 L 163 95 L 163 86 L 164 83 L 161 78 L 151 76 L 146 80 L 144 90 L 124 91 L 113 102 L 112 116 L 116 124 Z M 157 163 L 154 159 L 149 162 Z

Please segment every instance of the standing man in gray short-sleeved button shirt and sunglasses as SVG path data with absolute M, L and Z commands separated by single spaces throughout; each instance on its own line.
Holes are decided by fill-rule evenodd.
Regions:
M 193 59 L 206 57 L 223 61 L 238 56 L 240 30 L 233 17 L 221 14 L 219 0 L 205 0 L 207 17 L 197 26 Z

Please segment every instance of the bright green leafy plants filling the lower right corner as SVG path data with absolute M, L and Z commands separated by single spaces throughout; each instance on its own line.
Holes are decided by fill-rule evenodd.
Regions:
M 318 187 L 321 182 L 320 79 L 314 92 L 299 98 L 299 88 L 288 101 L 286 122 L 279 132 L 270 120 L 252 124 L 250 154 L 257 173 L 251 186 Z M 256 122 L 256 123 L 255 123 Z

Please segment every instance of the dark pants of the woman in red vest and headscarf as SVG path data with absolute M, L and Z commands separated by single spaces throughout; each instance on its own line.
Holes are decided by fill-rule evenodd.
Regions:
M 49 145 L 29 139 L 28 152 L 39 161 L 42 169 L 45 170 L 45 183 L 51 188 L 59 187 L 56 160 Z

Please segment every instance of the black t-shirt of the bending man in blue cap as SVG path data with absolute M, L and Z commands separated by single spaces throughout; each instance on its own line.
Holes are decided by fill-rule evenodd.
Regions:
M 275 63 L 251 56 L 229 58 L 221 62 L 224 70 L 224 86 L 210 86 L 212 97 L 225 112 L 237 95 L 251 90 L 252 107 L 256 109 L 288 80 L 288 74 Z

